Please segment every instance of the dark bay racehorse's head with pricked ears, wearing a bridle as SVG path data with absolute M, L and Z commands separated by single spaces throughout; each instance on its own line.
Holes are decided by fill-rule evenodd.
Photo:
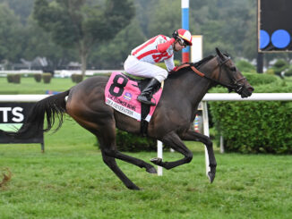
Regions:
M 214 71 L 215 78 L 219 84 L 229 89 L 229 92 L 235 91 L 241 97 L 250 97 L 253 93 L 253 87 L 248 83 L 241 72 L 236 68 L 235 63 L 228 55 L 222 54 L 216 48 L 216 57 L 218 68 Z

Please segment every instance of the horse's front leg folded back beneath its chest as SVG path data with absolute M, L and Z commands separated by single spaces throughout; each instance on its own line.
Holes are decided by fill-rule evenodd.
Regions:
M 172 131 L 168 133 L 166 136 L 163 137 L 163 139 L 160 139 L 165 145 L 172 147 L 177 152 L 183 154 L 185 157 L 183 159 L 180 159 L 178 161 L 174 162 L 163 162 L 161 158 L 153 158 L 151 159 L 151 162 L 153 164 L 160 165 L 167 170 L 174 168 L 181 164 L 190 163 L 193 159 L 193 153 L 190 151 L 184 144 L 184 142 L 178 137 L 176 132 Z

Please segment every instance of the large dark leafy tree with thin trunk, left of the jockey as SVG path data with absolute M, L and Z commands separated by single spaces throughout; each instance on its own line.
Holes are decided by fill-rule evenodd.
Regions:
M 124 29 L 133 17 L 129 0 L 36 0 L 34 18 L 59 46 L 78 50 L 85 74 L 92 46 L 107 42 Z

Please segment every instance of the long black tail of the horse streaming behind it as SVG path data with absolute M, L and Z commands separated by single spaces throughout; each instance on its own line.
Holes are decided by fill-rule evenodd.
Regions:
M 1 131 L 6 135 L 12 136 L 16 139 L 26 139 L 33 137 L 36 130 L 50 131 L 56 119 L 58 125 L 57 131 L 64 122 L 64 114 L 66 113 L 66 101 L 65 97 L 69 95 L 70 89 L 47 98 L 44 98 L 37 102 L 31 109 L 30 113 L 26 116 L 21 128 L 18 131 Z M 43 122 L 46 116 L 47 126 L 44 129 Z

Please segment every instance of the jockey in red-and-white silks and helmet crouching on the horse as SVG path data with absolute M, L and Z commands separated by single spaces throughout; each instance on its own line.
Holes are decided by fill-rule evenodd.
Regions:
M 151 102 L 152 94 L 160 87 L 161 81 L 167 79 L 168 72 L 176 71 L 174 51 L 180 51 L 185 46 L 192 46 L 192 35 L 186 29 L 177 29 L 172 38 L 158 35 L 132 50 L 124 63 L 125 72 L 151 78 L 137 98 L 138 101 L 146 105 L 155 105 Z M 168 72 L 155 65 L 161 61 L 166 64 Z

